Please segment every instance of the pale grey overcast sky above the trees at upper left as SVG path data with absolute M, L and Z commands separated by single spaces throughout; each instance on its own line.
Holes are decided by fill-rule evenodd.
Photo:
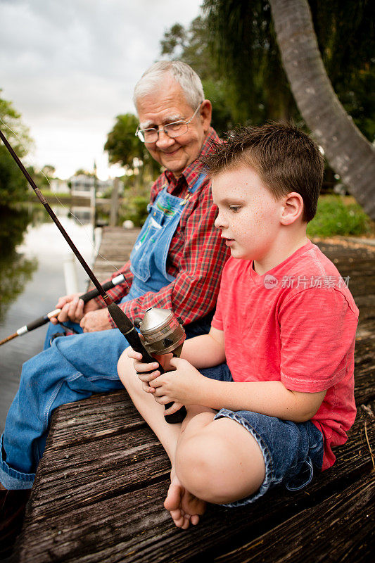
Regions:
M 103 153 L 132 91 L 160 58 L 160 39 L 188 25 L 202 0 L 0 0 L 1 97 L 30 128 L 27 165 L 67 178 L 82 167 L 108 177 Z M 115 175 L 111 167 L 110 175 Z M 117 170 L 118 174 L 118 170 Z

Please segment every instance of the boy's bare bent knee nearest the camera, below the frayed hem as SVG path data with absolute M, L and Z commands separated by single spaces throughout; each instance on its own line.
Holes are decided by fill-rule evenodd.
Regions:
M 197 415 L 181 434 L 176 472 L 196 497 L 227 504 L 258 491 L 265 479 L 265 460 L 257 441 L 241 424 L 213 417 L 208 412 Z

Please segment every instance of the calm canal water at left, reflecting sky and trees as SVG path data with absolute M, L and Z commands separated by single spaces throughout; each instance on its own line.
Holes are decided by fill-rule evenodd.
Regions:
M 75 208 L 81 224 L 66 207 L 53 211 L 91 266 L 96 251 L 89 214 Z M 63 262 L 69 257 L 68 243 L 44 208 L 0 208 L 0 340 L 55 308 L 66 294 Z M 86 291 L 89 279 L 76 259 L 75 270 L 79 291 Z M 0 346 L 0 432 L 23 362 L 42 350 L 45 333 L 46 325 Z

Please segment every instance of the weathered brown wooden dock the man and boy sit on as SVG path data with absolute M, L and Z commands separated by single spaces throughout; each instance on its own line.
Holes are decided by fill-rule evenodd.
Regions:
M 122 264 L 135 235 L 105 229 L 101 254 Z M 274 489 L 239 509 L 210 506 L 198 526 L 182 531 L 163 508 L 169 460 L 162 446 L 125 390 L 96 395 L 53 413 L 15 562 L 374 560 L 375 248 L 345 241 L 319 246 L 350 276 L 360 308 L 358 414 L 348 442 L 335 450 L 335 466 L 307 490 Z M 95 269 L 101 279 L 110 271 L 102 260 Z

